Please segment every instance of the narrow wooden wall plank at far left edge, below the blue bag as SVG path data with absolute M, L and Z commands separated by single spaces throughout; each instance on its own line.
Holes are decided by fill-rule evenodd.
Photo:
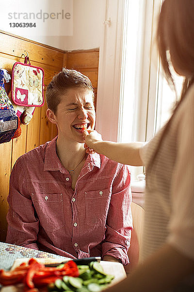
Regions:
M 5 241 L 7 233 L 6 215 L 8 211 L 9 176 L 11 172 L 12 141 L 0 144 L 0 241 Z

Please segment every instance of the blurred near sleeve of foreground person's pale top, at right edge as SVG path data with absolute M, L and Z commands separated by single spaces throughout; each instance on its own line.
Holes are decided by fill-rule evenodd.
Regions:
M 187 96 L 189 97 L 189 96 Z M 186 99 L 187 99 L 186 97 Z M 168 243 L 194 259 L 194 96 L 179 112 Z

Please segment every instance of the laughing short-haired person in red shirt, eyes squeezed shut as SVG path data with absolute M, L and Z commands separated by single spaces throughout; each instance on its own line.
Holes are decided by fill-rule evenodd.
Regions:
M 13 167 L 6 241 L 126 265 L 132 229 L 130 175 L 125 165 L 86 153 L 82 130 L 94 129 L 96 120 L 91 81 L 63 69 L 46 94 L 47 116 L 58 136 L 19 157 Z

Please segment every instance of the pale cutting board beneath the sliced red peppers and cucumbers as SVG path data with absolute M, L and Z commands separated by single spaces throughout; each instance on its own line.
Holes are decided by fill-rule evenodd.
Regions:
M 34 257 L 35 258 L 35 257 Z M 43 264 L 52 264 L 52 263 L 58 263 L 59 261 L 56 260 L 56 258 L 35 258 L 38 262 Z M 68 258 L 67 258 L 68 259 Z M 17 266 L 19 266 L 23 262 L 28 262 L 29 258 L 17 258 L 11 268 L 11 270 L 14 270 Z M 109 262 L 109 261 L 100 261 L 100 264 L 102 265 L 104 272 L 107 274 L 111 274 L 114 276 L 113 281 L 109 286 L 113 286 L 116 283 L 124 280 L 126 278 L 125 269 L 122 264 L 116 263 L 116 262 Z M 3 287 L 0 292 L 23 292 L 23 285 L 19 284 L 16 286 L 7 286 Z

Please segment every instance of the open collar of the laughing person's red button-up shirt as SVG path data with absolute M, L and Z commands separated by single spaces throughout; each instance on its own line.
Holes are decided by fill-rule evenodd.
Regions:
M 58 137 L 58 136 L 57 136 Z M 56 152 L 56 141 L 57 137 L 52 139 L 52 141 L 48 142 L 48 146 L 45 151 L 45 163 L 44 170 L 64 170 L 64 166 L 62 165 L 57 152 Z M 101 159 L 98 153 L 88 154 L 86 159 L 87 168 L 89 171 L 93 169 L 94 166 L 100 168 Z

